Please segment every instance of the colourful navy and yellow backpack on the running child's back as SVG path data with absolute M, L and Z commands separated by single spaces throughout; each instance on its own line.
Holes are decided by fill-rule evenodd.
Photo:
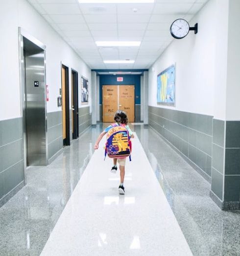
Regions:
M 107 142 L 105 146 L 105 157 L 108 155 L 112 158 L 130 157 L 131 161 L 131 141 L 128 130 L 124 126 L 112 124 L 107 132 Z

